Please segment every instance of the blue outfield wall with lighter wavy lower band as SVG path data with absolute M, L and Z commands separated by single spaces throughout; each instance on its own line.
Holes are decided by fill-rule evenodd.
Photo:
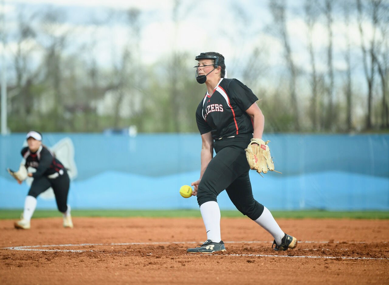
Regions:
M 77 177 L 68 203 L 79 209 L 197 209 L 181 185 L 200 172 L 198 134 L 44 133 L 51 148 L 64 138 L 74 145 Z M 0 136 L 0 208 L 23 208 L 29 186 L 17 184 L 25 134 Z M 389 210 L 389 135 L 264 135 L 275 169 L 262 178 L 250 171 L 254 198 L 271 210 Z M 233 210 L 225 191 L 218 203 Z M 55 209 L 49 195 L 37 208 Z

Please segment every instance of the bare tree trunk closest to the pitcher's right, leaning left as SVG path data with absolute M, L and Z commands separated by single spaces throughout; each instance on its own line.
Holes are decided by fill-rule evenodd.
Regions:
M 296 94 L 297 68 L 292 58 L 292 50 L 289 43 L 289 35 L 286 28 L 285 0 L 270 0 L 270 10 L 273 15 L 275 26 L 284 45 L 284 57 L 290 73 L 289 92 L 291 108 L 294 116 L 294 131 L 300 131 L 300 119 Z

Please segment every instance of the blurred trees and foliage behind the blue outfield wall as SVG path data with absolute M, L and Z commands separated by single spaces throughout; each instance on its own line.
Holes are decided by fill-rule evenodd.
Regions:
M 254 44 L 247 54 L 226 58 L 228 77 L 244 82 L 260 98 L 265 132 L 387 132 L 389 3 L 302 0 L 293 9 L 289 3 L 267 1 L 271 20 L 260 31 L 278 41 L 278 65 L 270 64 L 271 45 Z M 229 5 L 237 29 L 244 33 L 250 27 L 251 5 L 223 5 Z M 180 19 L 198 13 L 193 8 L 191 1 L 173 1 L 174 29 L 180 28 Z M 7 58 L 11 132 L 100 132 L 128 126 L 138 132 L 197 132 L 195 110 L 205 93 L 192 68 L 197 54 L 172 42 L 157 61 L 142 61 L 142 10 L 112 9 L 104 20 L 90 17 L 88 37 L 65 25 L 71 15 L 62 6 L 44 5 L 37 12 L 18 5 L 16 15 L 12 31 L 2 27 L 4 46 L 13 42 Z M 291 17 L 303 21 L 306 37 L 298 48 L 305 51 L 305 68 L 295 56 Z M 112 60 L 102 64 L 94 50 L 98 38 L 90 27 L 114 29 L 119 23 L 127 29 L 123 48 L 112 44 Z M 334 37 L 340 23 L 342 44 Z M 326 41 L 320 46 L 314 37 L 318 27 L 324 28 Z M 224 36 L 231 44 L 247 44 L 228 30 Z

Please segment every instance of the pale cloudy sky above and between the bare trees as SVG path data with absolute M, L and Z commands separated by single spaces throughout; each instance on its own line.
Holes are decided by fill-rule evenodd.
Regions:
M 154 63 L 166 52 L 177 49 L 188 51 L 193 57 L 199 52 L 217 51 L 225 56 L 228 64 L 229 60 L 236 62 L 239 58 L 247 58 L 253 47 L 266 50 L 269 66 L 280 65 L 283 61 L 282 43 L 271 32 L 273 19 L 268 0 L 182 0 L 177 26 L 172 21 L 174 0 L 0 0 L 0 3 L 3 3 L 2 8 L 6 11 L 5 30 L 9 34 L 17 29 L 16 15 L 20 9 L 39 12 L 54 7 L 67 11 L 66 22 L 60 24 L 58 32 L 72 29 L 77 31 L 82 41 L 93 38 L 96 44 L 91 52 L 95 52 L 101 62 L 111 61 L 112 53 L 128 42 L 128 24 L 116 22 L 112 26 L 102 23 L 107 18 L 107 11 L 130 8 L 137 8 L 141 12 L 140 49 L 144 63 Z M 304 1 L 287 0 L 286 3 L 293 57 L 300 68 L 307 70 L 310 64 Z M 244 17 L 239 17 L 239 14 Z M 100 25 L 96 25 L 96 22 Z M 351 23 L 347 31 L 343 22 L 342 17 L 335 17 L 334 66 L 340 70 L 345 68 L 342 49 L 346 46 L 346 33 L 349 33 L 352 44 L 359 45 L 356 23 Z M 319 59 L 325 57 L 328 44 L 325 24 L 323 19 L 319 19 L 313 35 Z M 369 30 L 368 24 L 365 28 Z M 77 44 L 77 39 L 74 44 Z M 15 47 L 16 43 L 8 35 L 6 54 Z M 324 70 L 326 61 L 318 60 L 317 68 Z

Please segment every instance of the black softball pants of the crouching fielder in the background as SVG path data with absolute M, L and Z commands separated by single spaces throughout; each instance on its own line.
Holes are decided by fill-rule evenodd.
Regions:
M 67 171 L 65 171 L 63 175 L 60 175 L 57 178 L 41 176 L 34 178 L 30 187 L 30 191 L 28 191 L 28 195 L 37 198 L 39 194 L 43 193 L 51 187 L 54 191 L 58 211 L 65 213 L 68 209 L 67 201 L 69 185 L 70 179 Z

